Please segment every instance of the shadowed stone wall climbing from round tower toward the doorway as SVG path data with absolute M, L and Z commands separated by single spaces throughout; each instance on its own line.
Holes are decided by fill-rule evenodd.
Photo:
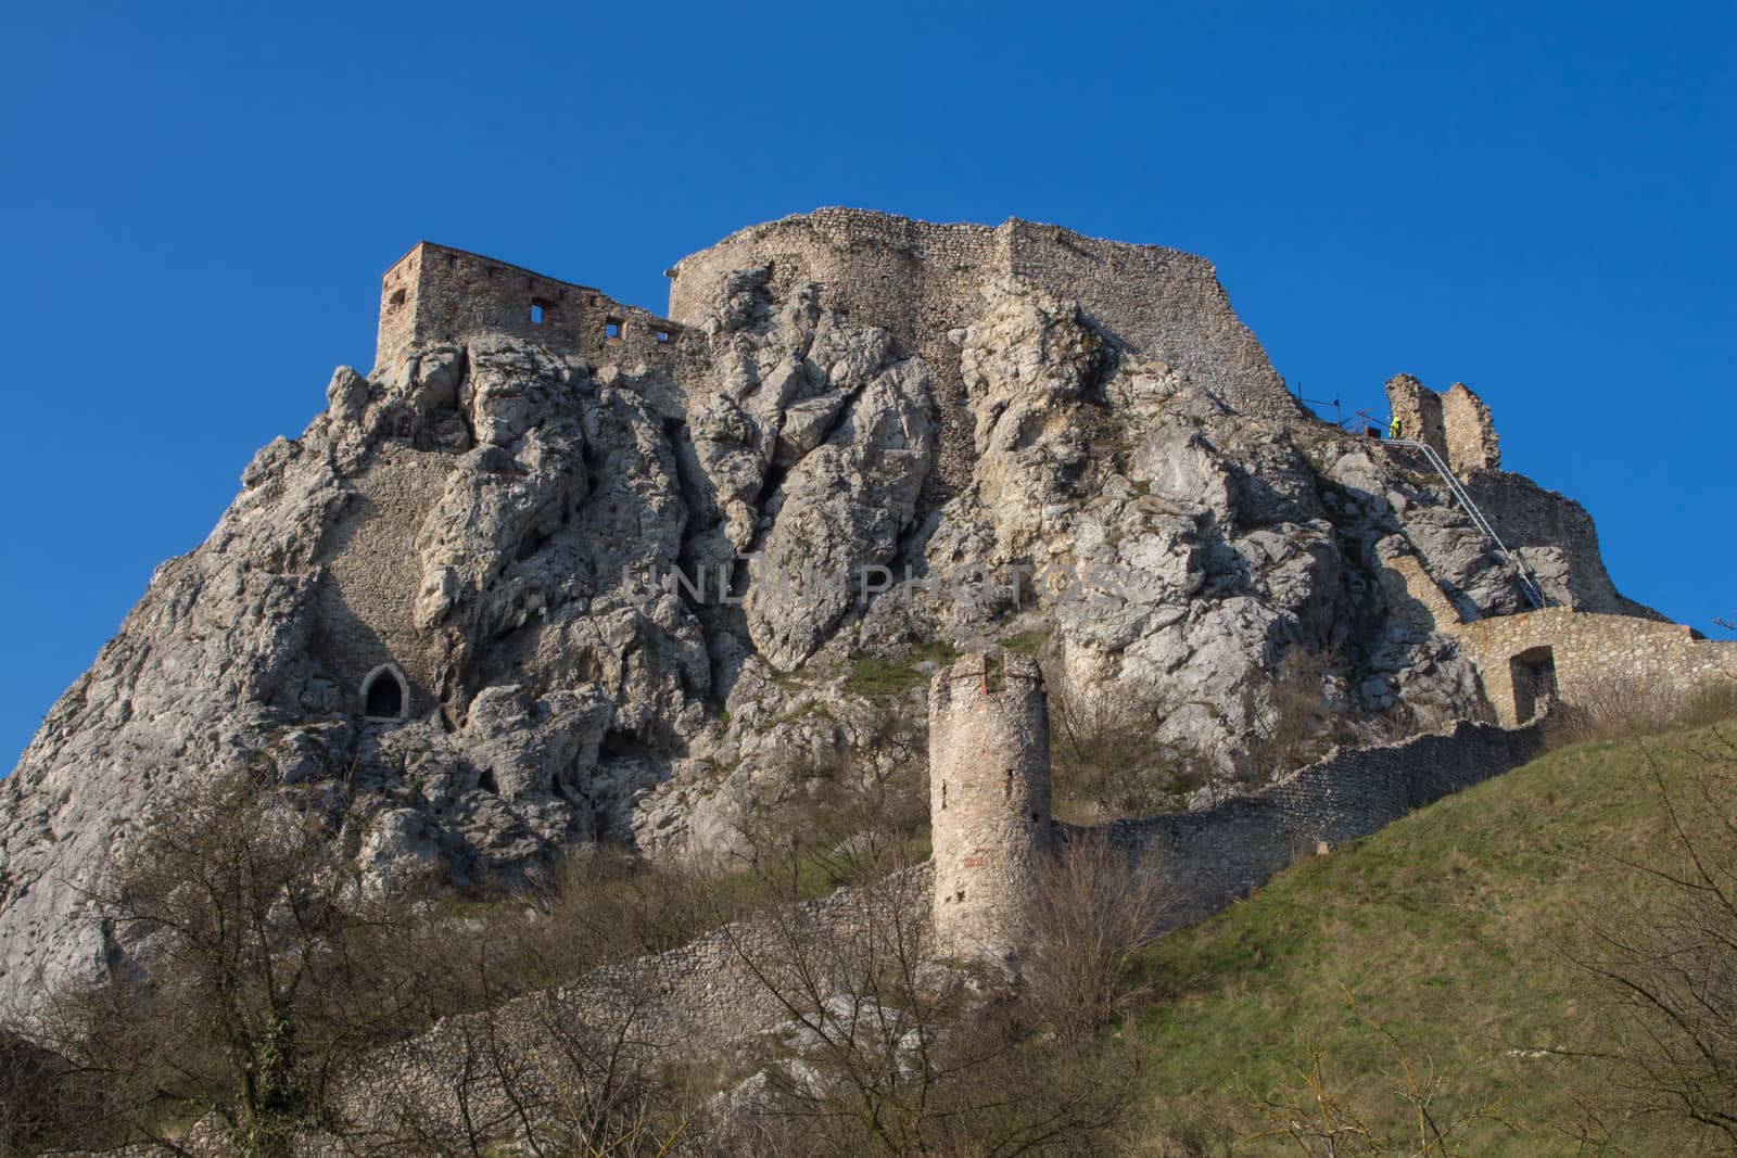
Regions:
M 1537 727 L 1461 720 L 1403 743 L 1339 750 L 1252 797 L 1199 813 L 1113 821 L 1112 847 L 1152 858 L 1176 884 L 1166 925 L 1202 920 L 1247 896 L 1298 856 L 1367 837 L 1449 793 L 1530 760 Z

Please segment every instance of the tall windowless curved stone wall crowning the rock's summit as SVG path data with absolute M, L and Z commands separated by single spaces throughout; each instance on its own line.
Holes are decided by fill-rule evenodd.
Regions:
M 1299 413 L 1232 311 L 1212 264 L 1179 250 L 1025 220 L 988 227 L 822 208 L 743 229 L 679 260 L 670 316 L 697 323 L 723 278 L 768 264 L 775 293 L 816 281 L 827 307 L 888 330 L 900 354 L 922 356 L 941 410 L 938 477 L 950 491 L 969 483 L 974 455 L 959 351 L 947 335 L 981 316 L 981 290 L 997 276 L 1021 274 L 1077 299 L 1120 340 L 1200 380 L 1238 411 Z

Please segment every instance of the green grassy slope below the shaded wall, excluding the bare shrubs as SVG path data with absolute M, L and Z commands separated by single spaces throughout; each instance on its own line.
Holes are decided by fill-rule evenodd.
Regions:
M 1727 734 L 1737 729 L 1725 727 Z M 1370 1125 L 1403 1135 L 1400 1068 L 1346 1003 L 1384 1023 L 1414 1064 L 1433 1061 L 1452 1118 L 1490 1099 L 1525 1132 L 1478 1127 L 1466 1153 L 1574 1153 L 1575 1097 L 1600 1095 L 1588 1063 L 1511 1050 L 1598 1042 L 1600 1009 L 1558 950 L 1577 920 L 1635 887 L 1617 858 L 1657 861 L 1671 844 L 1659 792 L 1694 764 L 1692 733 L 1588 743 L 1449 797 L 1374 837 L 1294 865 L 1245 903 L 1146 950 L 1153 1000 L 1139 1012 L 1148 1090 L 1136 1134 L 1178 1116 L 1258 1125 L 1266 1095 L 1308 1040 L 1329 1089 Z M 1605 1097 L 1603 1101 L 1608 1101 Z M 1636 1153 L 1688 1151 L 1657 1123 Z M 1235 1153 L 1298 1153 L 1247 1141 Z M 1159 1153 L 1162 1148 L 1153 1146 Z

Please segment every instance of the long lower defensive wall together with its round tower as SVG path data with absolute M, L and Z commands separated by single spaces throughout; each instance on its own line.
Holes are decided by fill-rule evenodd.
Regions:
M 1030 660 L 1007 660 L 1002 675 L 995 663 L 969 656 L 935 679 L 929 865 L 592 970 L 486 1017 L 443 1021 L 422 1038 L 372 1056 L 346 1080 L 351 1123 L 386 1127 L 417 1115 L 431 1137 L 445 1137 L 460 1128 L 462 1113 L 478 1125 L 511 1128 L 516 1109 L 502 1095 L 488 1054 L 493 1045 L 559 1057 L 563 1035 L 613 1035 L 631 1023 L 627 1036 L 639 1049 L 717 1056 L 790 1019 L 775 986 L 785 995 L 806 993 L 815 981 L 825 988 L 827 969 L 862 960 L 870 944 L 891 951 L 882 944 L 889 936 L 903 938 L 903 951 L 924 960 L 985 948 L 1004 953 L 1042 858 L 1060 840 L 1087 833 L 1105 835 L 1113 849 L 1157 865 L 1176 882 L 1179 905 L 1166 927 L 1202 920 L 1299 856 L 1367 837 L 1541 748 L 1537 724 L 1459 722 L 1402 743 L 1336 750 L 1259 793 L 1209 809 L 1075 828 L 1053 823 L 1047 811 L 1040 674 Z M 959 887 L 964 901 L 948 896 Z M 521 1078 L 526 1073 L 519 1069 Z

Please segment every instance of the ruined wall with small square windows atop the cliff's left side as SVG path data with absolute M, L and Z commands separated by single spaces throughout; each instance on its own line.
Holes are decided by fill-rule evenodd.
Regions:
M 373 365 L 474 333 L 511 333 L 585 356 L 658 358 L 679 332 L 601 290 L 419 241 L 380 278 Z

